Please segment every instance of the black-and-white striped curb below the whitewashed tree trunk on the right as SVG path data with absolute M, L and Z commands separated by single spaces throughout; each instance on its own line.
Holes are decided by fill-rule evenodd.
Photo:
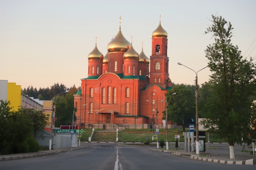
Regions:
M 215 163 L 224 163 L 224 164 L 236 164 L 236 165 L 256 165 L 256 159 L 249 159 L 246 161 L 223 161 L 218 159 L 208 159 L 191 156 L 190 159 L 196 159 L 200 161 L 215 162 Z

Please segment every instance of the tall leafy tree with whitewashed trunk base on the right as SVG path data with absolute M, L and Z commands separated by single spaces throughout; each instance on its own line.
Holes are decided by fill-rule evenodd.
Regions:
M 234 157 L 234 144 L 252 139 L 255 127 L 256 107 L 249 100 L 255 95 L 255 65 L 241 56 L 238 46 L 231 43 L 233 27 L 222 16 L 212 15 L 212 25 L 205 31 L 214 38 L 214 43 L 205 50 L 212 74 L 210 80 L 202 87 L 208 87 L 202 96 L 205 102 L 199 103 L 200 114 L 206 118 L 202 121 L 204 128 L 220 139 L 226 139 L 230 148 L 230 159 Z M 251 108 L 252 106 L 252 108 Z

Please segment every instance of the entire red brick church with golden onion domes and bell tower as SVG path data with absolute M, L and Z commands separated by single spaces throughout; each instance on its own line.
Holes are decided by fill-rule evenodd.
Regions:
M 88 77 L 81 79 L 81 90 L 74 95 L 81 124 L 152 124 L 156 107 L 158 124 L 162 124 L 162 95 L 173 86 L 168 73 L 167 36 L 160 22 L 152 33 L 150 59 L 143 47 L 140 54 L 135 51 L 124 38 L 121 26 L 109 42 L 105 56 L 96 43 L 88 54 Z

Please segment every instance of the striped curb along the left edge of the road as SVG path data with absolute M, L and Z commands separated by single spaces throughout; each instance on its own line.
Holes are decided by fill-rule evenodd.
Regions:
M 86 147 L 87 147 L 87 146 L 86 146 Z M 0 158 L 0 161 L 10 161 L 10 160 L 16 160 L 16 159 L 26 159 L 26 158 L 42 157 L 42 156 L 45 156 L 45 155 L 59 154 L 59 153 L 63 153 L 63 152 L 68 152 L 68 151 L 74 151 L 74 150 L 78 150 L 78 149 L 83 149 L 83 148 L 86 148 L 86 147 L 74 148 L 74 149 L 67 149 L 67 150 L 63 150 L 63 151 L 54 151 L 54 152 L 48 152 L 48 153 L 42 153 L 42 154 L 26 155 L 26 156 L 3 157 L 3 158 Z

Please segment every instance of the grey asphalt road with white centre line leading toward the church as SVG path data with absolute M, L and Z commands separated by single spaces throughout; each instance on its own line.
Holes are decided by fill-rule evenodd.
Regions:
M 90 148 L 37 158 L 1 161 L 0 170 L 255 170 L 255 165 L 227 165 L 155 152 L 140 146 L 88 143 Z M 129 147 L 137 147 L 129 148 Z

